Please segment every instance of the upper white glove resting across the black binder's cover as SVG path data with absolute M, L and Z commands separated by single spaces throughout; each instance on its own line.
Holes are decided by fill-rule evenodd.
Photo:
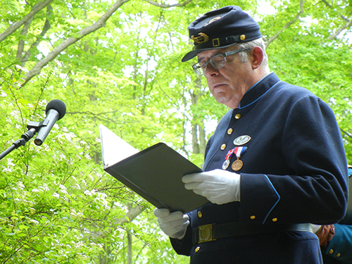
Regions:
M 241 175 L 227 170 L 210 170 L 182 177 L 184 187 L 205 196 L 212 203 L 230 203 L 240 200 Z

